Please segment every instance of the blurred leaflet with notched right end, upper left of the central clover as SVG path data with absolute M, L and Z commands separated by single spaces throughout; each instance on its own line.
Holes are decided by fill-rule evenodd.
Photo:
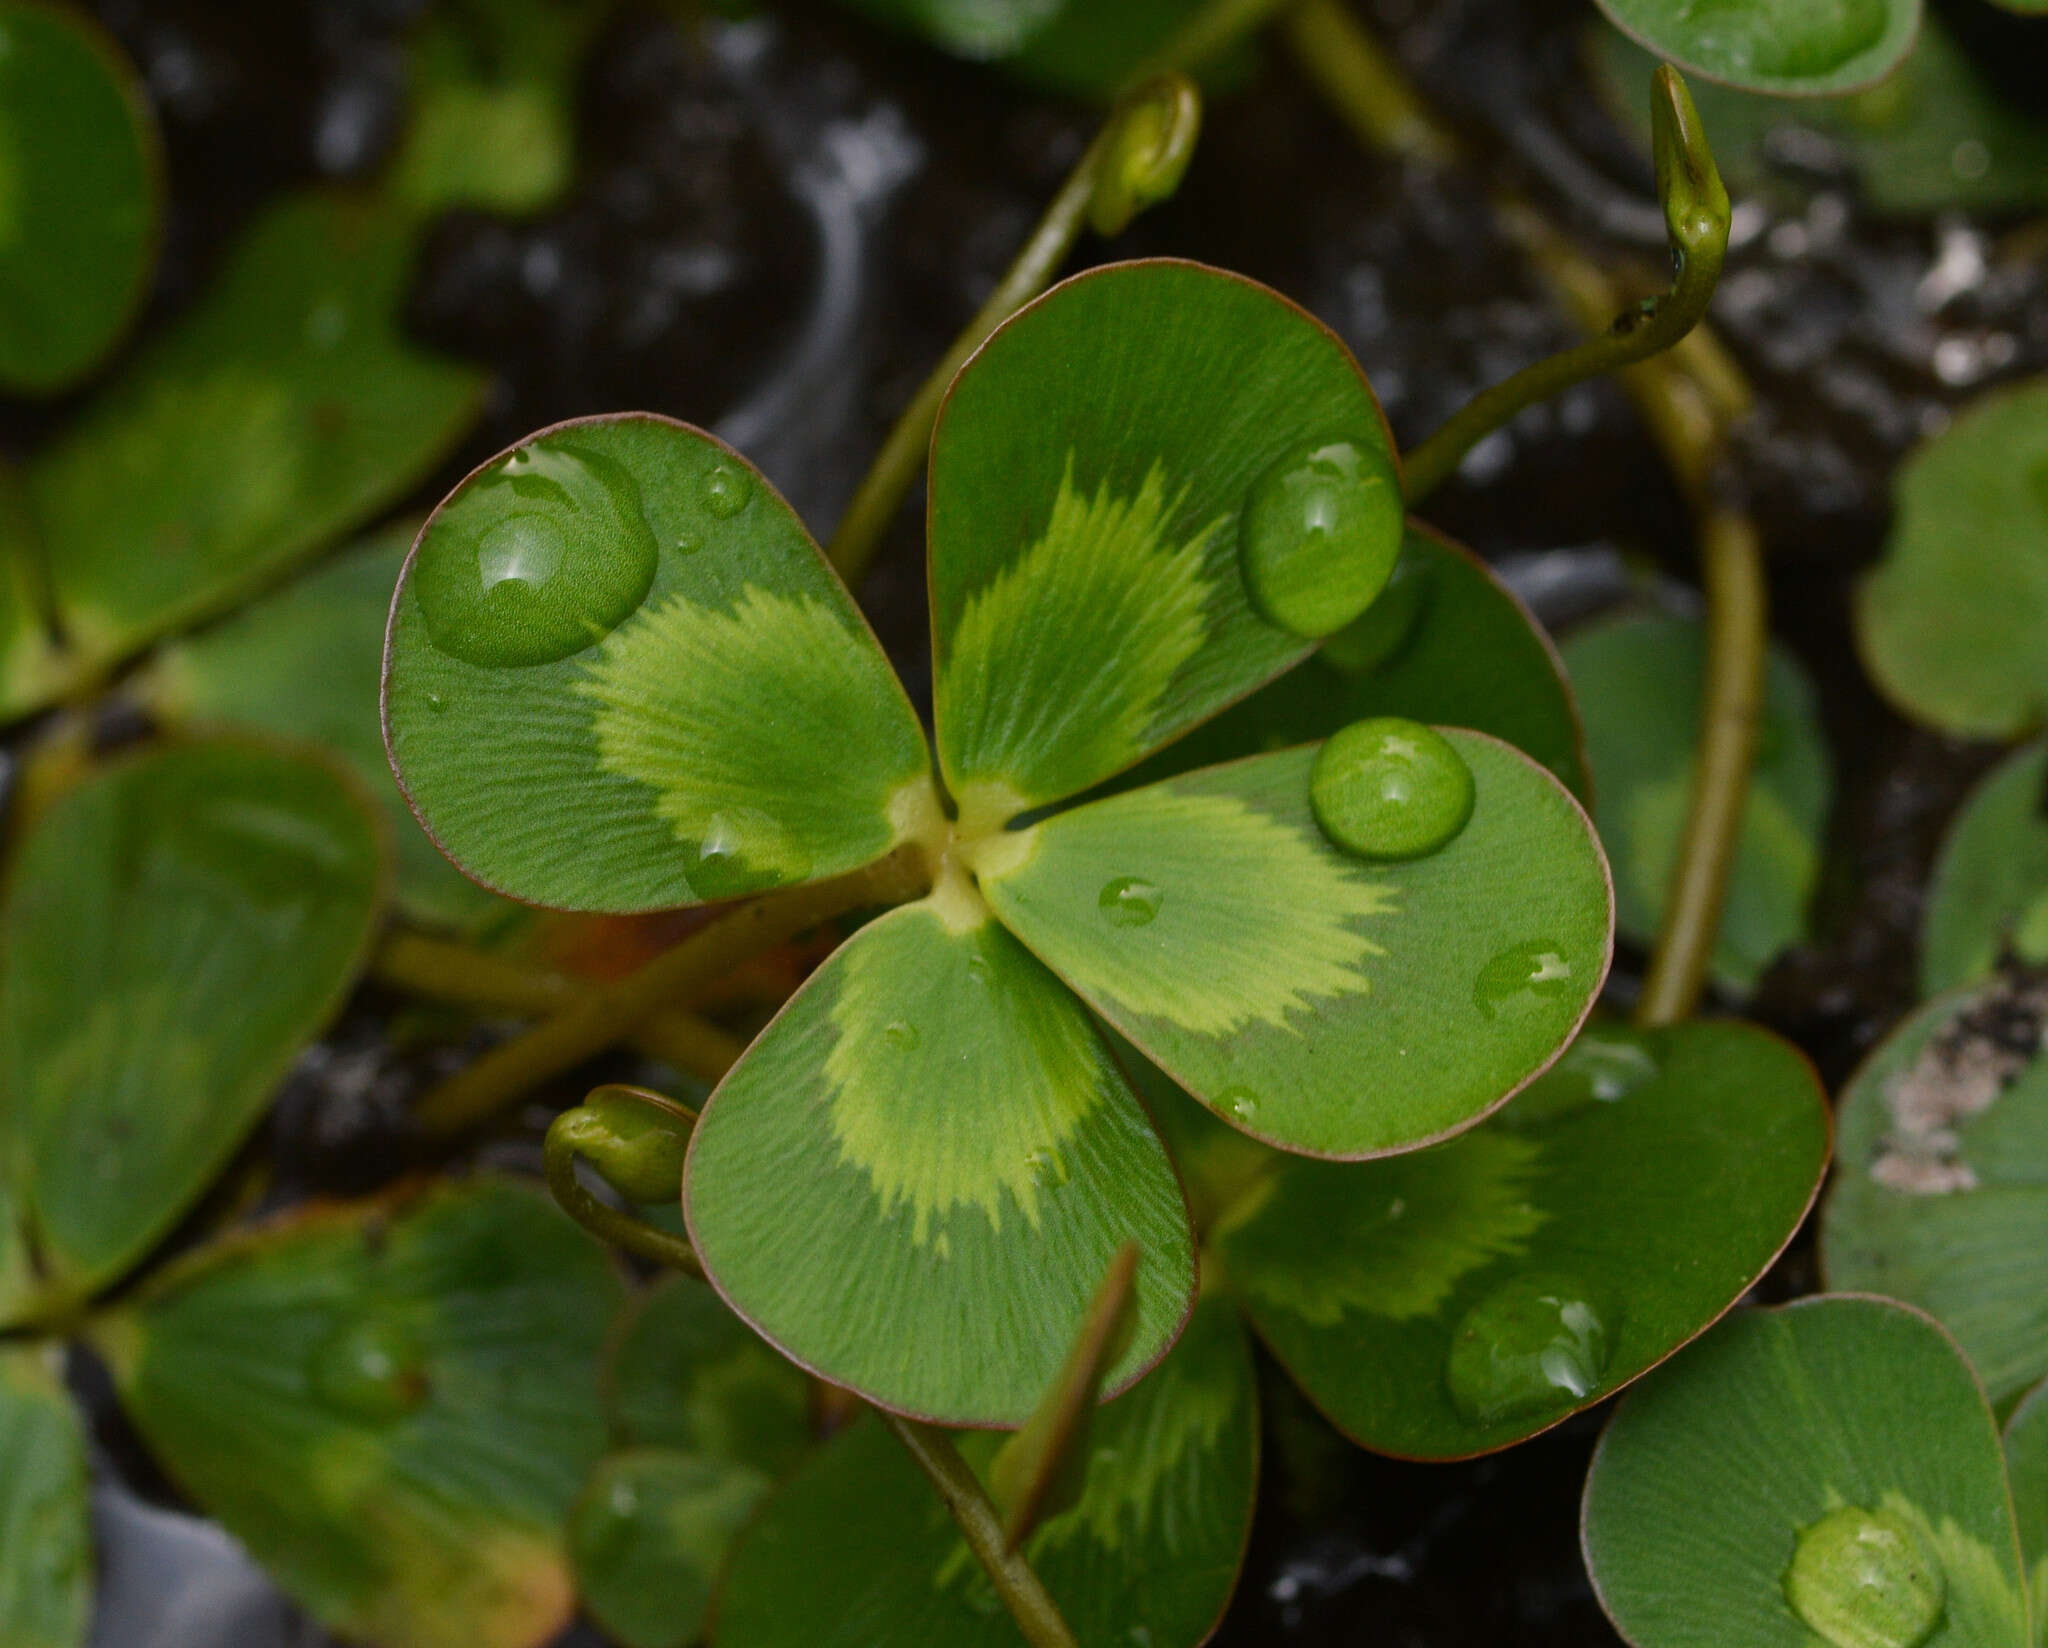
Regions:
M 410 264 L 408 227 L 379 205 L 287 199 L 201 305 L 37 452 L 31 502 L 82 663 L 233 604 L 461 438 L 483 377 L 399 336 Z

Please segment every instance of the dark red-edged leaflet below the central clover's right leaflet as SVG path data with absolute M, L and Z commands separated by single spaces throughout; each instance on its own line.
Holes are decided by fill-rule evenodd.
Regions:
M 1778 1038 L 1595 1026 L 1448 1144 L 1229 1165 L 1243 1189 L 1210 1241 L 1253 1327 L 1341 1431 L 1458 1458 L 1554 1425 L 1700 1333 L 1790 1241 L 1827 1153 L 1821 1089 Z M 1573 1349 L 1548 1327 L 1534 1365 L 1516 1359 L 1516 1325 L 1544 1298 L 1585 1310 L 1569 1365 L 1544 1368 Z M 1475 1386 L 1479 1351 L 1497 1361 Z

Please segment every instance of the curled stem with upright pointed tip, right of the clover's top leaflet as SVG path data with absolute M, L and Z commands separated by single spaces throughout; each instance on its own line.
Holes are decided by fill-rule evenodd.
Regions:
M 1686 338 L 1706 315 L 1729 254 L 1729 190 L 1720 182 L 1692 92 L 1669 63 L 1657 68 L 1655 92 L 1657 192 L 1671 237 L 1671 289 L 1622 311 L 1599 338 L 1526 366 L 1452 414 L 1403 463 L 1409 504 L 1436 491 L 1473 446 L 1522 407 L 1589 377 L 1647 360 Z

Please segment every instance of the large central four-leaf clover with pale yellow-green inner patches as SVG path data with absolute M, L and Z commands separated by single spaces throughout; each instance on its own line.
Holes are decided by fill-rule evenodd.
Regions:
M 1325 526 L 1341 577 L 1305 606 L 1286 567 Z M 1049 813 L 1313 651 L 1255 588 L 1337 628 L 1399 532 L 1384 420 L 1323 326 L 1219 270 L 1112 266 L 1006 323 L 934 434 L 944 794 L 803 524 L 651 416 L 545 430 L 434 512 L 391 608 L 387 743 L 442 850 L 539 903 L 922 864 L 924 897 L 854 934 L 713 1093 L 684 1212 L 793 1359 L 1014 1425 L 1124 1243 L 1112 1390 L 1194 1294 L 1174 1165 L 1090 1009 L 1233 1126 L 1362 1157 L 1485 1116 L 1599 989 L 1591 827 L 1481 733 L 1446 733 L 1470 823 L 1411 862 L 1323 835 L 1315 747 Z

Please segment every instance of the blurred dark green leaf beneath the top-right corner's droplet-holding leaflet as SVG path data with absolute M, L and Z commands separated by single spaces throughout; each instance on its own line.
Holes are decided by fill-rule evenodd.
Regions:
M 1657 57 L 1606 27 L 1591 57 L 1602 98 L 1649 154 Z M 1788 100 L 1706 80 L 1696 80 L 1692 94 L 1729 188 L 1769 188 L 1767 139 L 1800 127 L 1843 149 L 1866 207 L 1886 217 L 2048 205 L 2048 121 L 1993 86 L 1939 16 L 1921 23 L 1913 55 L 1892 74 L 1849 96 Z M 1796 188 L 1780 182 L 1784 192 Z

